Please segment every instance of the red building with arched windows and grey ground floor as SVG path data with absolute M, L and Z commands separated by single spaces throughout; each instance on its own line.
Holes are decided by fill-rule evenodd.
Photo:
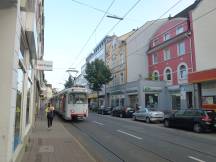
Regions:
M 149 75 L 153 80 L 166 81 L 172 109 L 193 105 L 193 87 L 188 73 L 195 69 L 192 33 L 186 17 L 170 18 L 152 37 L 148 51 Z

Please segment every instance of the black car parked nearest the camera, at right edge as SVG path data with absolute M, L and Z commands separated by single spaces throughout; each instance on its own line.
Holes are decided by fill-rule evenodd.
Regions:
M 216 115 L 213 110 L 178 110 L 165 117 L 164 126 L 191 129 L 194 132 L 200 133 L 216 128 Z

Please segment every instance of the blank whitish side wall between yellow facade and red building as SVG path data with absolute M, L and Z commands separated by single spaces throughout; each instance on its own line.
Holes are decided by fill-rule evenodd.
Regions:
M 128 82 L 137 81 L 140 77 L 147 78 L 149 42 L 156 30 L 167 19 L 146 22 L 131 37 L 127 39 L 127 78 Z

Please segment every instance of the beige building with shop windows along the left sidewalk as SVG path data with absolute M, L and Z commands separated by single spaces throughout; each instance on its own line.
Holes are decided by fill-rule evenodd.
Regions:
M 19 161 L 39 106 L 44 75 L 43 0 L 0 1 L 0 161 Z

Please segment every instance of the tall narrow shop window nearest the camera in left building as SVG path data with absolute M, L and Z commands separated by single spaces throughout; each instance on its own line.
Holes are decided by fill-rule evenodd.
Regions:
M 16 96 L 16 113 L 15 113 L 15 130 L 14 130 L 14 150 L 20 143 L 20 131 L 21 131 L 21 111 L 23 102 L 23 81 L 24 70 L 19 64 L 17 70 L 17 96 Z

